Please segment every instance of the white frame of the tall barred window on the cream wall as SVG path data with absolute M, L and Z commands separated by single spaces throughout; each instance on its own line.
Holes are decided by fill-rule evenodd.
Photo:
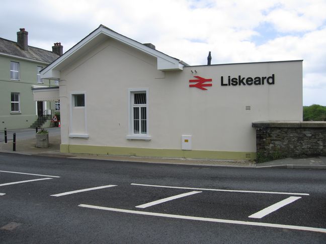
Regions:
M 146 134 L 134 133 L 133 128 L 133 94 L 135 93 L 146 93 Z M 149 136 L 149 119 L 148 119 L 148 88 L 129 88 L 128 89 L 128 135 L 126 139 L 128 140 L 151 140 Z

